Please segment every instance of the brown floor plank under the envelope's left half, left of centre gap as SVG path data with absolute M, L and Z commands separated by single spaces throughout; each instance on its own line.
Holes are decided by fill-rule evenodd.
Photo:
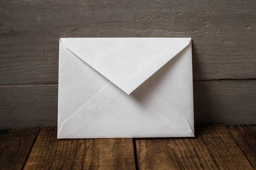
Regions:
M 41 129 L 24 170 L 133 170 L 131 138 L 57 139 L 57 127 Z

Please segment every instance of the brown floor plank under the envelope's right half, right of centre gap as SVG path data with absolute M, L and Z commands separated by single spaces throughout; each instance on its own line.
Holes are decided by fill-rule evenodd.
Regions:
M 252 170 L 222 125 L 197 125 L 195 138 L 136 139 L 140 170 Z

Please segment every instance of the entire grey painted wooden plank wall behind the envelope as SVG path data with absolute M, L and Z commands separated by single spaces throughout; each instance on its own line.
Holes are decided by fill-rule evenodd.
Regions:
M 0 0 L 0 128 L 56 125 L 60 37 L 192 37 L 195 122 L 256 123 L 256 0 Z

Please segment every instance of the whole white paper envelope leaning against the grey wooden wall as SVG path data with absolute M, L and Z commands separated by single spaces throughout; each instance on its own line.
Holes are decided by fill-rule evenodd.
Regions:
M 58 138 L 194 136 L 191 38 L 61 38 Z

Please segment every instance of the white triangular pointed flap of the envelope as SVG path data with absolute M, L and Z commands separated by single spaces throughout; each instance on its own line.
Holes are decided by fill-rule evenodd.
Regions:
M 64 46 L 130 94 L 191 38 L 61 38 Z

